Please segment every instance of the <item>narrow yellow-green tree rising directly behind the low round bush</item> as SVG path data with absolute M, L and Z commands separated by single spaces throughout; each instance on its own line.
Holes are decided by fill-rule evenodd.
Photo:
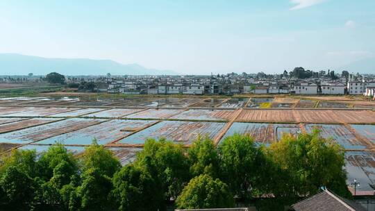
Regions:
M 213 178 L 219 177 L 219 156 L 213 140 L 206 137 L 198 137 L 188 150 L 190 162 L 190 174 L 199 176 L 208 174 Z

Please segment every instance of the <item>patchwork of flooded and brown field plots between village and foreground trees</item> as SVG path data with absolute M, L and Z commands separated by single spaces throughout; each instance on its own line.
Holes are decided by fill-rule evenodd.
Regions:
M 81 153 L 96 139 L 124 164 L 147 138 L 189 146 L 199 135 L 220 144 L 240 133 L 268 146 L 283 133 L 318 128 L 345 149 L 348 178 L 368 184 L 375 183 L 373 108 L 373 102 L 344 96 L 8 97 L 0 99 L 0 144 L 3 150 L 44 151 L 60 142 Z

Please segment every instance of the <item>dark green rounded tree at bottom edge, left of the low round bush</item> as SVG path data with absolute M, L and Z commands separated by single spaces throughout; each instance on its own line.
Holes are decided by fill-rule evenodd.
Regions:
M 113 176 L 113 197 L 118 210 L 158 210 L 163 196 L 149 172 L 127 165 Z M 147 202 L 147 203 L 145 203 Z

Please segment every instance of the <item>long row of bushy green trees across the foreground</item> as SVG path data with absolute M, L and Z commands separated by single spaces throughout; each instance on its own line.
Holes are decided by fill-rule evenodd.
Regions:
M 190 148 L 149 139 L 133 162 L 119 160 L 95 141 L 73 155 L 61 144 L 43 153 L 14 150 L 1 158 L 3 210 L 166 210 L 232 208 L 253 203 L 283 210 L 325 186 L 350 198 L 344 149 L 313 133 L 284 134 L 269 147 L 248 135 L 217 147 L 199 137 Z

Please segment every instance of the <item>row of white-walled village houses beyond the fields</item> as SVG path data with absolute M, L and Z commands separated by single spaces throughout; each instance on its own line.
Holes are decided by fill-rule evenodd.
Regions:
M 339 78 L 127 78 L 112 81 L 109 93 L 123 94 L 365 94 L 374 95 L 375 81 Z

